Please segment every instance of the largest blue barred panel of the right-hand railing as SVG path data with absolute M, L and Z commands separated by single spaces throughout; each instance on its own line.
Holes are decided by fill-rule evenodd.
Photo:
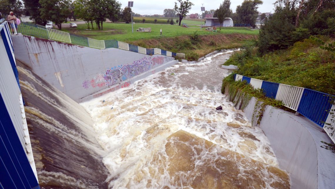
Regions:
M 297 112 L 323 127 L 331 106 L 331 95 L 305 88 Z

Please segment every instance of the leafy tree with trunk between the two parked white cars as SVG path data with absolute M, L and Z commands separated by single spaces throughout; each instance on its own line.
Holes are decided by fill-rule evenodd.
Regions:
M 70 0 L 40 0 L 41 18 L 56 23 L 62 29 L 62 23 L 70 14 Z

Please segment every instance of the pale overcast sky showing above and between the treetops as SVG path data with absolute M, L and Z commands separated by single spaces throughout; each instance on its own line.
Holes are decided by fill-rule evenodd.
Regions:
M 129 0 L 118 0 L 122 7 L 128 6 Z M 217 9 L 223 0 L 190 0 L 194 5 L 189 13 L 199 13 L 201 14 L 202 3 L 206 10 Z M 259 12 L 273 12 L 273 3 L 276 0 L 263 0 L 263 4 L 259 6 Z M 134 0 L 133 12 L 139 14 L 163 14 L 164 9 L 173 9 L 176 0 Z M 236 12 L 237 5 L 241 5 L 243 0 L 231 0 L 230 8 L 233 12 Z

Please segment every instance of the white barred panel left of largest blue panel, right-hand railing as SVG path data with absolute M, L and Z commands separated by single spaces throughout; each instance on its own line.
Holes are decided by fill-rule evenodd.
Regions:
M 293 110 L 298 109 L 299 102 L 303 96 L 304 88 L 279 84 L 276 100 L 282 101 L 283 105 Z

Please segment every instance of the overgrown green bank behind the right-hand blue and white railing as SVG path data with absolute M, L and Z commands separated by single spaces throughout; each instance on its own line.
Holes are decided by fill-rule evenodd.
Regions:
M 325 42 L 329 45 L 334 41 L 326 36 L 311 37 L 264 56 L 257 53 L 257 48 L 247 46 L 233 54 L 225 65 L 237 65 L 236 73 L 243 76 L 334 95 L 335 52 L 320 48 Z

